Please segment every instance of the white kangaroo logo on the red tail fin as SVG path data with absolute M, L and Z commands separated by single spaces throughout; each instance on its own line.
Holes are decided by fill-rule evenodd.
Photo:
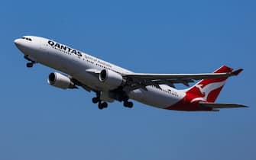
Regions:
M 190 102 L 192 103 L 194 101 L 207 101 L 209 93 L 217 88 L 222 87 L 223 85 L 225 85 L 225 81 L 210 83 L 210 84 L 206 85 L 204 88 L 202 88 L 203 85 L 196 85 L 195 87 L 199 88 L 199 91 L 201 92 L 201 94 L 204 95 L 204 97 L 203 98 L 194 98 Z

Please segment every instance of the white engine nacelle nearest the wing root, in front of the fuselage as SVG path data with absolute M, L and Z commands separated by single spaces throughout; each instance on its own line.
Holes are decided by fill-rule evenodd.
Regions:
M 99 73 L 99 82 L 102 82 L 105 90 L 110 91 L 118 88 L 124 82 L 122 75 L 112 70 L 103 69 Z

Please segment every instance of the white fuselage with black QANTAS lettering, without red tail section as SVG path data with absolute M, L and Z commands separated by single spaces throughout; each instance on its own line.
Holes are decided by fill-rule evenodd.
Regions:
M 104 86 L 99 78 L 86 72 L 87 69 L 109 69 L 120 74 L 132 73 L 127 69 L 115 66 L 94 56 L 90 56 L 69 46 L 57 43 L 43 37 L 32 37 L 30 40 L 18 39 L 15 43 L 22 43 L 18 48 L 35 62 L 44 66 L 64 72 L 79 82 L 89 86 L 94 91 L 104 91 Z M 160 85 L 160 88 L 153 85 L 146 86 L 147 89 L 139 88 L 131 91 L 128 96 L 135 101 L 154 107 L 170 107 L 185 97 L 185 92 L 171 88 L 168 85 Z

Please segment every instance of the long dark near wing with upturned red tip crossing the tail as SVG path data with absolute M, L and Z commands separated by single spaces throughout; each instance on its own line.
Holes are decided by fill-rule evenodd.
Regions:
M 159 85 L 169 85 L 175 87 L 174 84 L 180 83 L 189 86 L 189 83 L 195 80 L 207 78 L 227 78 L 238 75 L 243 69 L 237 69 L 233 72 L 225 73 L 199 73 L 199 74 L 145 74 L 145 73 L 131 73 L 123 75 L 128 82 L 135 88 L 144 88 L 147 85 L 154 85 L 159 88 Z M 144 87 L 143 87 L 144 86 Z

